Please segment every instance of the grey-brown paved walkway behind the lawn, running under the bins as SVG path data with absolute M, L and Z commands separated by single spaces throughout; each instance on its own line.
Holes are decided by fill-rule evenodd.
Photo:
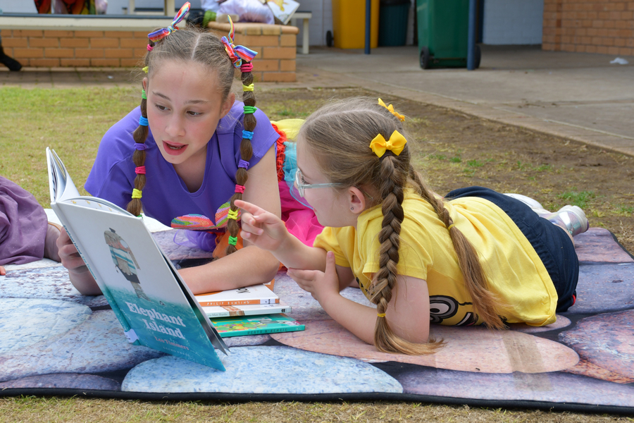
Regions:
M 313 48 L 297 56 L 297 81 L 279 87 L 365 87 L 502 123 L 634 155 L 634 57 L 483 46 L 477 71 L 418 66 L 416 47 Z M 0 71 L 0 86 L 74 87 L 135 84 L 130 70 Z M 509 146 L 512 149 L 512 146 Z

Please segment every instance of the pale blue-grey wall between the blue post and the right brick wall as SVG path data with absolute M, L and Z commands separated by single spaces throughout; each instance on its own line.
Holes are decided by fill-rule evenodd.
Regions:
M 542 44 L 544 0 L 485 0 L 484 44 Z

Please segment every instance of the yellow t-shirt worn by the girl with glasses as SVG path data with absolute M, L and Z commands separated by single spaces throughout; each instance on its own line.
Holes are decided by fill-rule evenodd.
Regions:
M 492 292 L 505 306 L 497 312 L 508 323 L 543 326 L 555 321 L 557 291 L 540 257 L 516 224 L 488 200 L 463 197 L 445 202 L 456 227 L 480 257 Z M 456 252 L 431 204 L 411 190 L 403 202 L 400 275 L 427 281 L 430 321 L 464 326 L 475 321 L 471 296 L 464 286 Z M 324 228 L 314 246 L 335 253 L 338 265 L 350 267 L 369 298 L 370 278 L 379 270 L 380 205 L 363 212 L 356 229 Z

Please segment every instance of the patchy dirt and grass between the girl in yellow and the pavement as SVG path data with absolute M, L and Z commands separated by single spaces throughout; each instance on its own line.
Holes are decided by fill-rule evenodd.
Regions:
M 306 118 L 328 99 L 378 94 L 349 90 L 259 92 L 271 120 Z M 480 185 L 533 197 L 546 209 L 582 207 L 590 226 L 609 229 L 634 252 L 634 158 L 481 118 L 380 96 L 405 114 L 414 166 L 440 194 Z

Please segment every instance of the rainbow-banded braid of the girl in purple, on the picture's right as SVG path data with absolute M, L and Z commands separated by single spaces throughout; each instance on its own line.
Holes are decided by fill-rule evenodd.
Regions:
M 238 209 L 235 206 L 235 200 L 242 200 L 242 192 L 244 192 L 244 184 L 247 183 L 249 175 L 247 168 L 249 161 L 253 157 L 253 147 L 251 146 L 251 137 L 253 137 L 253 131 L 256 127 L 255 111 L 255 95 L 253 94 L 253 73 L 251 70 L 253 65 L 251 63 L 243 63 L 240 66 L 242 77 L 242 102 L 244 102 L 244 131 L 242 131 L 242 141 L 240 142 L 240 166 L 238 166 L 235 172 L 236 188 L 235 194 L 232 195 L 230 200 L 230 217 L 237 216 Z M 228 219 L 227 228 L 229 230 L 229 245 L 227 245 L 227 255 L 235 252 L 235 242 L 237 240 L 238 231 L 240 231 L 240 225 L 237 223 L 237 219 Z

